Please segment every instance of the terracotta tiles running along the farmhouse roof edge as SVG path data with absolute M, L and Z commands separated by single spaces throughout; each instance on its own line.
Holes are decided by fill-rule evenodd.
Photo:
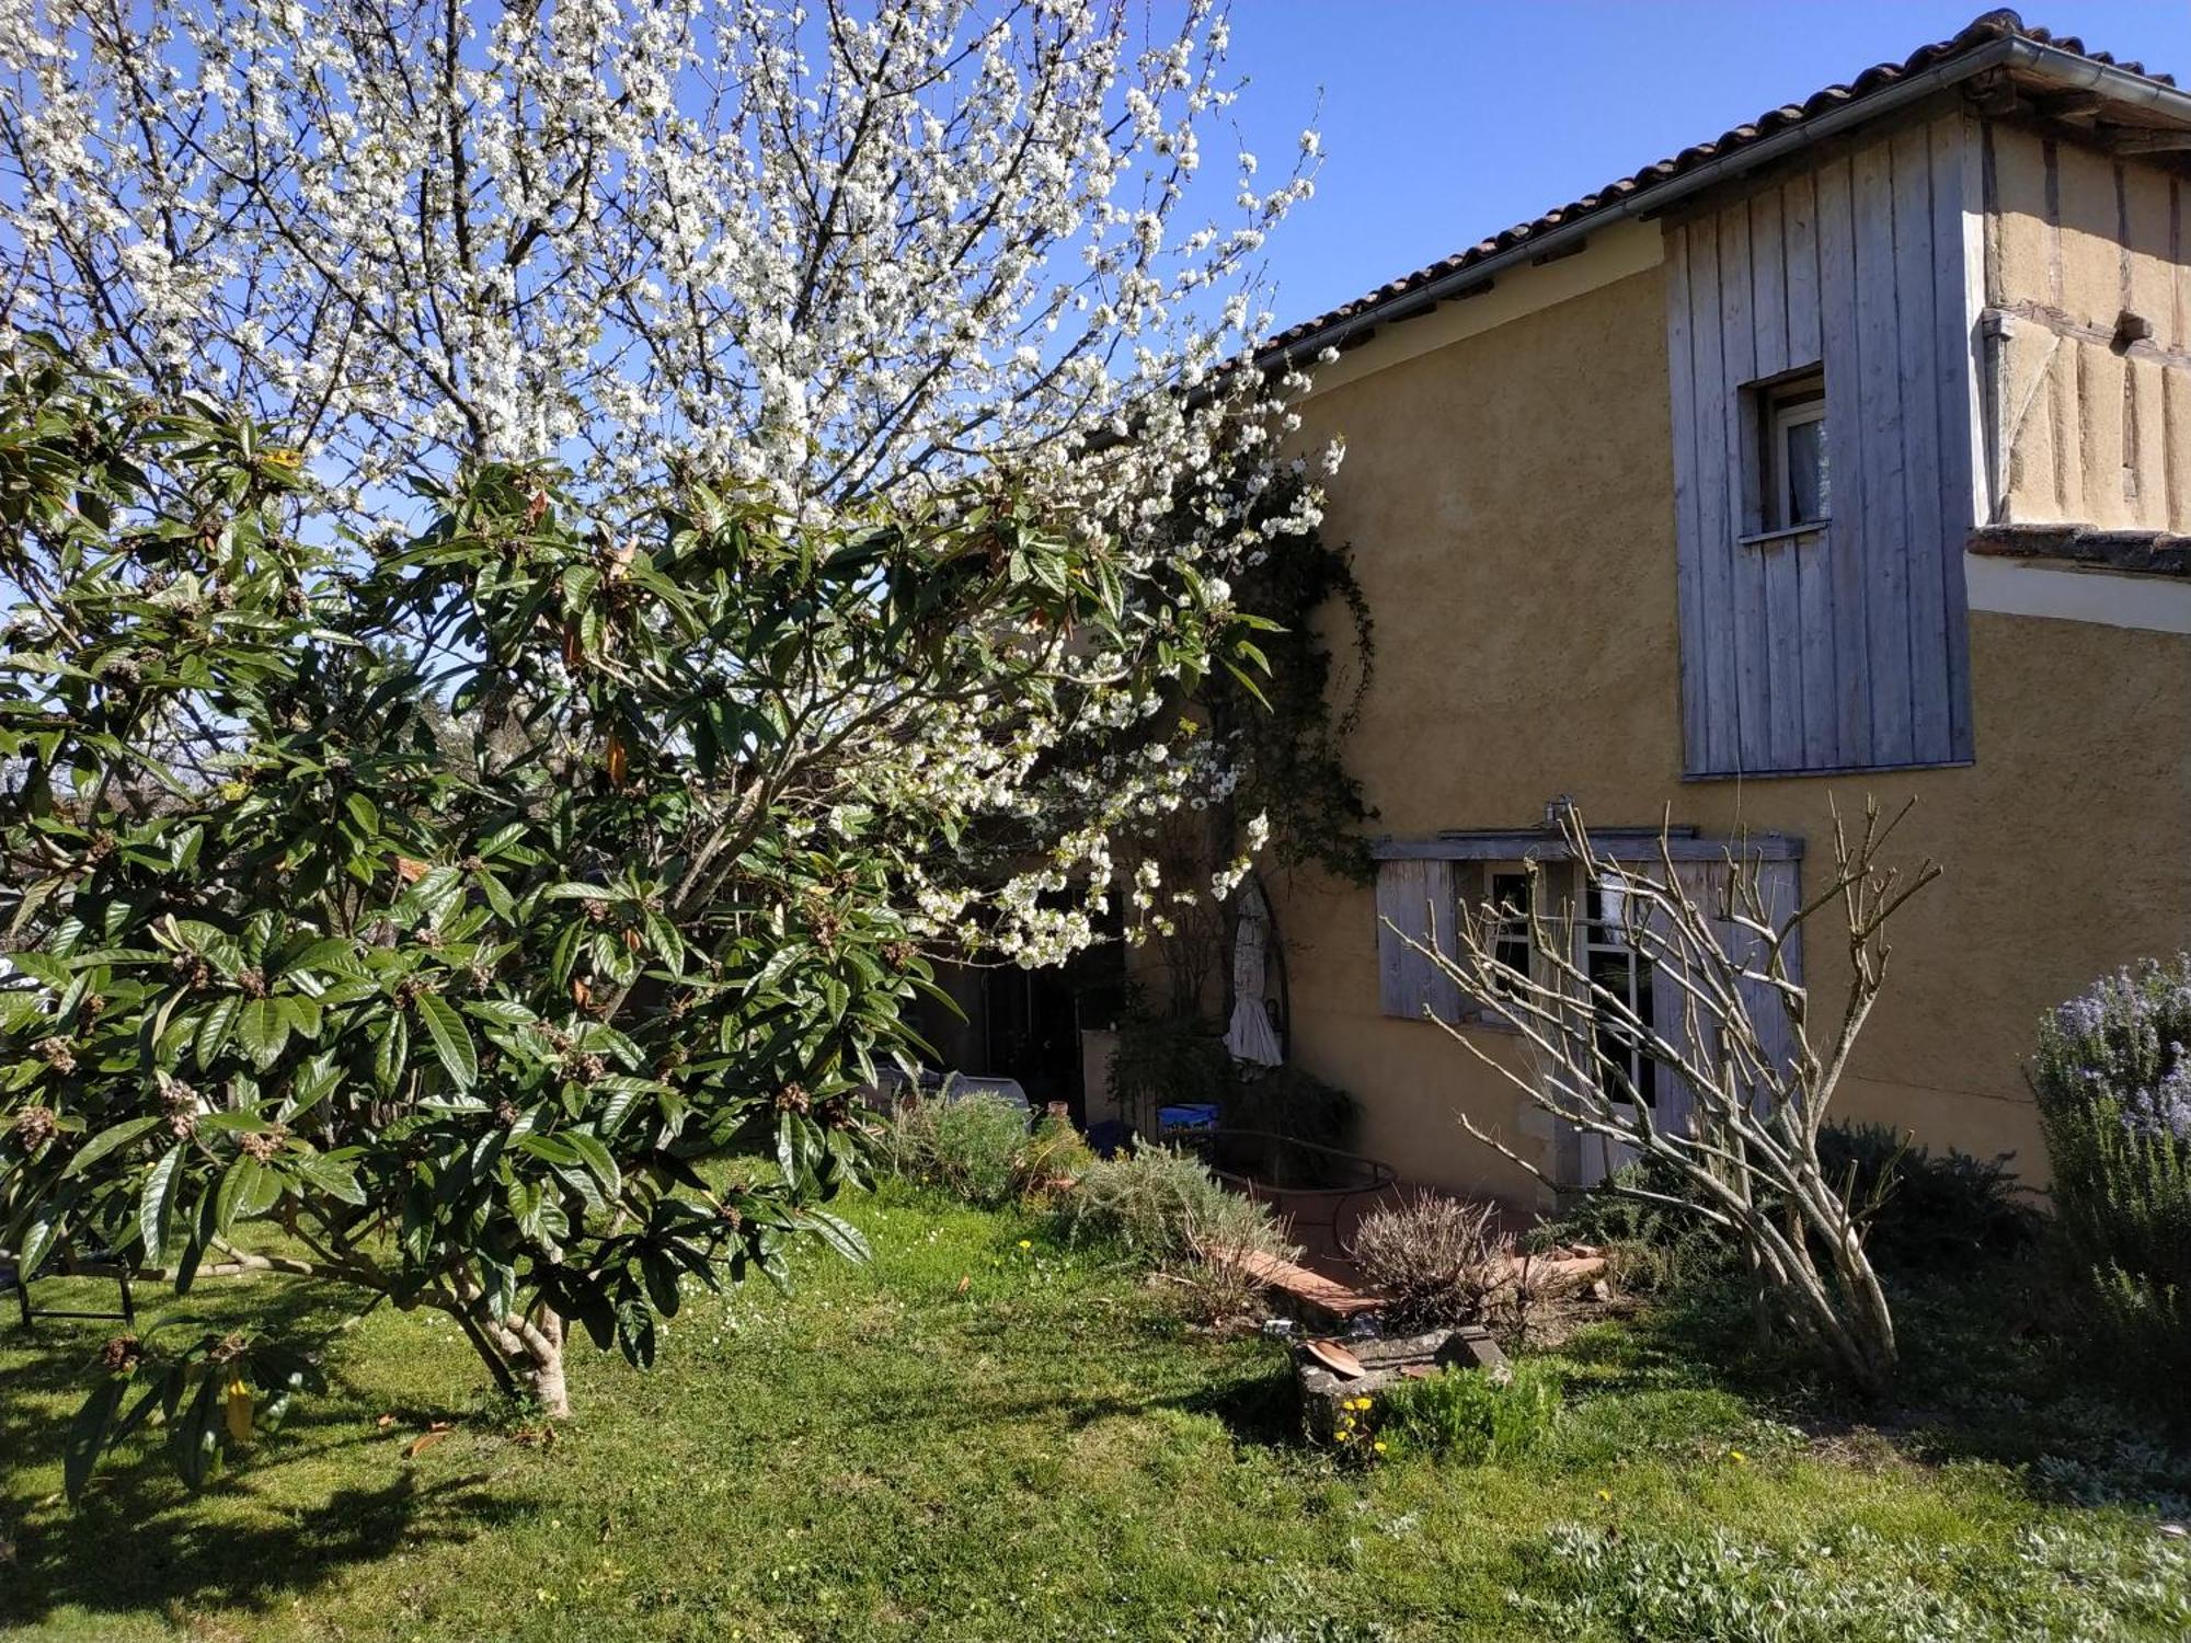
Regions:
M 1882 92 L 1889 85 L 1895 85 L 1908 79 L 1911 74 L 1919 74 L 1928 68 L 1935 68 L 1937 64 L 1943 64 L 1952 57 L 1961 57 L 1965 53 L 1981 50 L 1983 46 L 1989 46 L 1996 39 L 2011 39 L 2011 37 L 2029 39 L 2040 46 L 2053 46 L 2055 50 L 2066 50 L 2077 57 L 2086 57 L 2095 64 L 2106 64 L 2110 68 L 2121 68 L 2123 72 L 2158 81 L 2160 85 L 2176 83 L 2171 74 L 2152 72 L 2143 64 L 2132 64 L 2132 61 L 2119 64 L 2103 50 L 2086 50 L 2084 42 L 2077 39 L 2075 35 L 2057 37 L 2046 28 L 2024 24 L 2024 20 L 2014 11 L 2007 9 L 1987 11 L 1983 18 L 1976 18 L 1968 28 L 1954 35 L 1954 39 L 1941 39 L 1930 46 L 1919 46 L 1900 64 L 1875 64 L 1856 79 L 1851 79 L 1847 85 L 1827 85 L 1825 90 L 1814 92 L 1803 103 L 1783 103 L 1781 107 L 1768 110 L 1759 114 L 1755 120 L 1737 125 L 1733 131 L 1724 131 L 1713 142 L 1698 142 L 1696 147 L 1683 149 L 1670 160 L 1659 160 L 1656 164 L 1648 164 L 1628 177 L 1617 177 L 1615 182 L 1608 182 L 1595 193 L 1586 193 L 1580 199 L 1571 199 L 1564 206 L 1556 206 L 1553 210 L 1547 210 L 1542 217 L 1536 217 L 1534 221 L 1514 223 L 1512 228 L 1492 234 L 1490 239 L 1479 239 L 1475 245 L 1453 252 L 1450 256 L 1442 256 L 1429 267 L 1418 267 L 1413 274 L 1402 274 L 1396 280 L 1387 280 L 1385 285 L 1376 287 L 1374 291 L 1367 291 L 1365 296 L 1354 298 L 1352 302 L 1341 302 L 1330 313 L 1319 313 L 1315 320 L 1301 320 L 1299 324 L 1288 326 L 1286 331 L 1280 331 L 1269 342 L 1264 342 L 1258 355 L 1269 357 L 1282 348 L 1306 342 L 1308 337 L 1321 331 L 1328 331 L 1356 315 L 1365 315 L 1372 309 L 1391 302 L 1393 298 L 1407 296 L 1409 291 L 1418 291 L 1424 285 L 1431 285 L 1433 280 L 1442 280 L 1450 274 L 1466 272 L 1468 267 L 1483 263 L 1496 256 L 1499 252 L 1514 250 L 1516 245 L 1542 237 L 1553 228 L 1562 228 L 1564 223 L 1571 223 L 1580 217 L 1591 217 L 1608 206 L 1617 206 L 1621 199 L 1634 195 L 1641 188 L 1667 182 L 1672 177 L 1680 177 L 1683 173 L 1696 171 L 1698 166 L 1718 160 L 1724 153 L 1740 151 L 1753 142 L 1775 136 L 1777 131 L 1786 131 L 1790 127 L 1803 125 L 1805 120 L 1814 120 L 1821 114 L 1847 107 L 1849 103 L 1862 101 L 1873 92 Z

